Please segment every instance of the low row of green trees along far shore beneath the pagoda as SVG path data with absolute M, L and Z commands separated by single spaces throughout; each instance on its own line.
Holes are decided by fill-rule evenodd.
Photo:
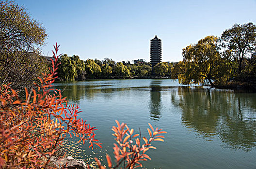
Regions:
M 110 79 L 110 78 L 150 78 L 171 76 L 173 63 L 161 62 L 151 67 L 149 62 L 131 64 L 129 61 L 115 62 L 111 58 L 81 60 L 79 56 L 60 56 L 58 75 L 60 80 Z

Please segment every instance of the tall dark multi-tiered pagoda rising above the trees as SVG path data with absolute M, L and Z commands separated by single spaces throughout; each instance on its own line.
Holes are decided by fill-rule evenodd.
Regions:
M 157 35 L 150 40 L 150 61 L 152 68 L 162 60 L 162 46 L 161 41 Z

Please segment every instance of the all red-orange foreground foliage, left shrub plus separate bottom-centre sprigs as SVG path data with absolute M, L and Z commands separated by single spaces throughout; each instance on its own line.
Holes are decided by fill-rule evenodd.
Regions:
M 57 78 L 57 56 L 59 46 L 54 46 L 54 60 L 50 74 L 39 78 L 41 84 L 35 84 L 31 90 L 25 88 L 24 98 L 10 84 L 0 86 L 0 169 L 51 168 L 50 157 L 56 154 L 58 146 L 67 135 L 79 137 L 80 141 L 89 141 L 89 148 L 101 143 L 95 139 L 95 127 L 91 127 L 83 119 L 77 104 L 67 104 L 61 91 L 54 89 L 52 83 Z M 134 134 L 126 124 L 116 120 L 113 127 L 115 165 L 109 155 L 109 168 L 133 169 L 142 167 L 141 162 L 151 158 L 145 153 L 156 149 L 152 141 L 163 141 L 161 129 L 154 129 L 150 124 L 149 138 Z M 79 142 L 80 142 L 79 141 Z M 100 169 L 105 169 L 96 158 Z M 63 166 L 65 167 L 65 166 Z M 89 167 L 89 166 L 88 166 Z

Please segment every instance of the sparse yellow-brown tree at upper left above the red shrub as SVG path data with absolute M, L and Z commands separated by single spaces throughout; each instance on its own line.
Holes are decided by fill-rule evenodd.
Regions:
M 0 0 L 0 82 L 15 89 L 30 87 L 48 68 L 39 54 L 47 33 L 25 8 Z

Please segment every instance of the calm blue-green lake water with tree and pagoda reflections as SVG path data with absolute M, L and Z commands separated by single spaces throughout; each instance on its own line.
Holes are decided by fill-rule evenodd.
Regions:
M 97 127 L 112 155 L 114 120 L 148 137 L 148 123 L 167 131 L 148 151 L 147 169 L 256 169 L 256 93 L 182 86 L 171 79 L 88 80 L 55 83 L 80 117 Z M 113 159 L 113 157 L 112 157 Z

